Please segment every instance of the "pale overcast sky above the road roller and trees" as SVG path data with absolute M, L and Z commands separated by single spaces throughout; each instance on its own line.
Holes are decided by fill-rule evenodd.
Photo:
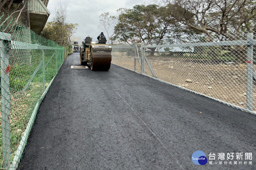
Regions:
M 79 25 L 73 36 L 84 39 L 89 35 L 92 40 L 96 40 L 103 31 L 98 27 L 98 17 L 101 13 L 109 12 L 110 15 L 115 15 L 119 8 L 132 8 L 135 4 L 148 4 L 151 0 L 49 0 L 47 8 L 50 15 L 47 21 L 52 21 L 54 18 L 58 1 L 67 6 L 66 22 Z

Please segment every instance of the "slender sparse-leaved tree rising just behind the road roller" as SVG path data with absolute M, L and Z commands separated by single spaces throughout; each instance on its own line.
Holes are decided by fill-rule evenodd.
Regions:
M 100 29 L 106 31 L 107 35 L 107 44 L 110 45 L 110 40 L 113 37 L 114 33 L 110 33 L 111 29 L 113 29 L 114 24 L 117 22 L 116 16 L 109 15 L 109 12 L 103 12 L 99 15 L 99 25 Z

